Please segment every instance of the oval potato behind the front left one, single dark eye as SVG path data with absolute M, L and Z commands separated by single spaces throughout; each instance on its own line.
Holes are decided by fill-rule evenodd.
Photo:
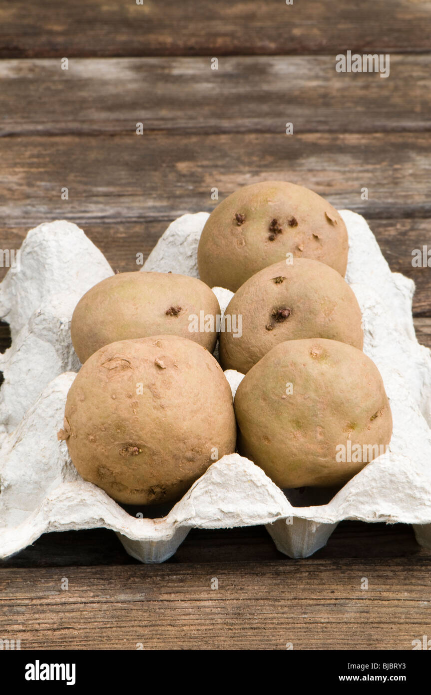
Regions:
M 189 331 L 189 316 L 199 311 L 204 316 L 220 313 L 217 297 L 201 280 L 167 272 L 121 272 L 81 297 L 71 319 L 71 340 L 81 363 L 103 345 L 162 334 L 183 336 L 213 352 L 215 330 Z

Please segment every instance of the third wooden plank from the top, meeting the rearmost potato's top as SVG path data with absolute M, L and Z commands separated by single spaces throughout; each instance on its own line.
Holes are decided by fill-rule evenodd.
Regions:
M 221 199 L 263 179 L 301 183 L 368 219 L 424 218 L 430 154 L 430 132 L 1 138 L 1 224 L 172 220 L 211 210 L 213 187 Z

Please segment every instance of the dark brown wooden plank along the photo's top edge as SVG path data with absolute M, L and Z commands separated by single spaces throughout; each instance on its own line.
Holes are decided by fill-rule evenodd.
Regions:
M 428 2 L 75 0 L 0 9 L 0 57 L 429 51 Z

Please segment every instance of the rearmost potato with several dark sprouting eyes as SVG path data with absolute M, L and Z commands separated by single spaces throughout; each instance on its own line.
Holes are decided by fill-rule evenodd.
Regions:
M 233 292 L 286 254 L 346 273 L 348 237 L 326 200 L 287 181 L 262 181 L 229 195 L 212 211 L 198 245 L 198 270 L 210 287 Z

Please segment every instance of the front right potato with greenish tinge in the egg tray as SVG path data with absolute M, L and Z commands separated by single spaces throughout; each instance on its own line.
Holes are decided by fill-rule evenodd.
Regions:
M 242 379 L 234 406 L 239 451 L 280 488 L 341 486 L 366 463 L 337 462 L 337 445 L 391 440 L 378 368 L 356 347 L 324 338 L 273 347 Z

